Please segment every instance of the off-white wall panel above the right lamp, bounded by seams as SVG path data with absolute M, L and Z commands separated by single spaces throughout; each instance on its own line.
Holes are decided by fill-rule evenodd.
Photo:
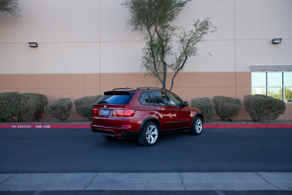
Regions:
M 236 0 L 236 39 L 292 39 L 292 0 Z

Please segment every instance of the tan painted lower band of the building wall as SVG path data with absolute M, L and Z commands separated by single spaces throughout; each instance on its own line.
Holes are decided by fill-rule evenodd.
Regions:
M 167 87 L 170 87 L 171 77 L 172 74 L 168 74 Z M 145 76 L 144 73 L 0 75 L 0 93 L 18 91 L 44 94 L 49 103 L 58 98 L 71 98 L 74 101 L 85 96 L 100 95 L 117 87 L 141 86 L 161 85 L 155 78 Z M 179 73 L 172 91 L 188 102 L 192 98 L 213 98 L 217 95 L 239 98 L 243 102 L 243 96 L 251 93 L 251 73 Z M 285 117 L 281 116 L 280 119 L 292 119 L 292 104 L 286 104 L 286 107 Z M 81 118 L 74 106 L 70 118 Z M 249 116 L 242 110 L 237 118 L 245 119 Z

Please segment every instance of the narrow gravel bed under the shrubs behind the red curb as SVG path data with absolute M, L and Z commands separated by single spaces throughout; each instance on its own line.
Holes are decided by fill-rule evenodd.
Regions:
M 4 124 L 90 124 L 91 121 L 88 119 L 69 119 L 65 122 L 62 122 L 57 119 L 40 119 L 39 121 L 9 121 L 4 122 L 0 121 L 0 125 Z M 292 124 L 292 120 L 265 120 L 265 121 L 259 121 L 254 122 L 252 120 L 237 120 L 233 119 L 231 121 L 222 121 L 219 119 L 214 119 L 208 123 L 205 124 Z

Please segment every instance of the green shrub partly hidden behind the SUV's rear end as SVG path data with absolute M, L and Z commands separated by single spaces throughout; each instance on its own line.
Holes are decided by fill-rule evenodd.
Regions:
M 102 96 L 87 96 L 74 100 L 76 112 L 82 117 L 87 117 L 91 120 L 93 104 Z

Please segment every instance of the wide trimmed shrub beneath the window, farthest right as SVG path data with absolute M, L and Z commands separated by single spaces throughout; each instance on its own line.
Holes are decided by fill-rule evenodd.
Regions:
M 274 120 L 286 110 L 284 101 L 259 94 L 245 95 L 244 107 L 254 121 Z

